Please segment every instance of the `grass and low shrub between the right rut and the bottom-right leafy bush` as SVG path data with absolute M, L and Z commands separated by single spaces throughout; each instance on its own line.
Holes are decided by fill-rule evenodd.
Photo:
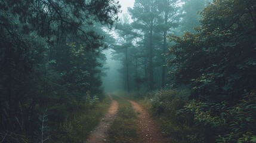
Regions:
M 152 114 L 169 142 L 185 143 L 186 136 L 198 130 L 188 122 L 181 123 L 176 116 L 176 111 L 183 108 L 186 101 L 185 91 L 161 90 L 144 95 L 144 100 L 139 103 Z

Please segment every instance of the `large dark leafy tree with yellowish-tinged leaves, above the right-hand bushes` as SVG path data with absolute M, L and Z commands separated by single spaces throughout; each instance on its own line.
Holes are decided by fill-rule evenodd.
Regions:
M 192 97 L 237 102 L 255 89 L 255 1 L 214 1 L 202 12 L 199 33 L 173 36 L 177 83 Z

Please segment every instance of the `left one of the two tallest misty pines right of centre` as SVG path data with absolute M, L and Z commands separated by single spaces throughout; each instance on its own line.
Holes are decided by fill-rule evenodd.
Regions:
M 147 57 L 149 60 L 149 89 L 154 89 L 154 77 L 153 77 L 153 32 L 159 22 L 159 12 L 156 7 L 155 0 L 136 0 L 133 8 L 128 8 L 131 14 L 132 27 L 141 31 L 141 38 L 146 43 Z

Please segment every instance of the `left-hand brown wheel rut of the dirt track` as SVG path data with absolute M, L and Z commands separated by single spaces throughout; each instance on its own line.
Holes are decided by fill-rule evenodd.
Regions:
M 113 98 L 109 95 L 111 100 L 111 105 L 107 114 L 101 119 L 100 124 L 97 128 L 95 128 L 94 132 L 90 135 L 87 142 L 104 142 L 107 138 L 107 129 L 109 129 L 110 124 L 115 119 L 115 114 L 118 111 L 118 102 L 113 100 Z

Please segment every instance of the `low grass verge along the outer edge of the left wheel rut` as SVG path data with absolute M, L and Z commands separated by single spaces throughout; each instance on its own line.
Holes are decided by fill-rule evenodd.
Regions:
M 110 106 L 109 97 L 105 97 L 93 108 L 82 106 L 73 119 L 66 119 L 64 123 L 55 125 L 51 139 L 54 142 L 85 142 L 91 130 L 100 122 Z M 71 113 L 70 113 L 71 114 Z

